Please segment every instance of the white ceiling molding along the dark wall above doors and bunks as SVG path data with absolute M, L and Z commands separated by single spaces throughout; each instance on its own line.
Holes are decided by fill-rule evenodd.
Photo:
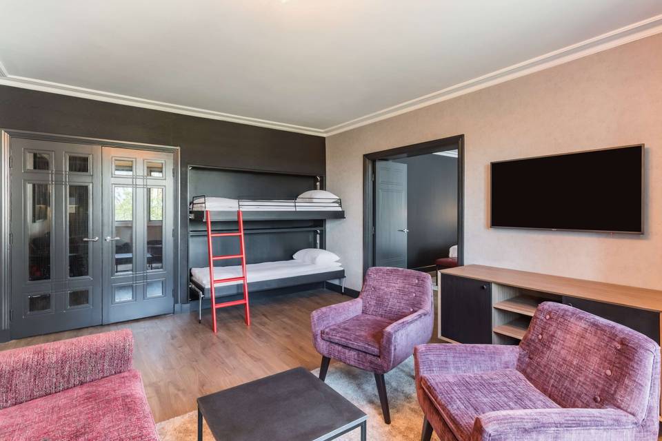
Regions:
M 16 76 L 1 74 L 2 68 L 0 65 L 0 85 L 9 85 L 16 88 L 40 90 L 41 92 L 51 92 L 55 94 L 77 96 L 78 98 L 94 99 L 97 101 L 106 101 L 107 103 L 132 105 L 134 107 L 143 107 L 152 110 L 162 110 L 163 112 L 172 112 L 183 115 L 199 116 L 200 118 L 217 119 L 220 121 L 228 121 L 230 123 L 240 123 L 248 125 L 257 125 L 258 127 L 266 127 L 269 129 L 285 130 L 288 132 L 297 132 L 309 135 L 324 136 L 324 131 L 312 127 L 302 127 L 300 125 L 293 125 L 287 123 L 277 123 L 276 121 L 266 121 L 263 119 L 250 118 L 248 116 L 239 116 L 223 112 L 215 112 L 214 110 L 199 109 L 197 107 L 188 107 L 185 105 L 163 103 L 161 101 L 152 101 L 149 99 L 137 98 L 136 96 L 128 96 L 121 94 L 114 94 L 111 92 L 102 92 L 100 90 L 79 88 L 74 85 L 66 85 L 61 83 L 53 83 L 51 81 L 43 81 L 38 79 L 26 78 L 23 76 Z M 5 70 L 5 73 L 6 70 Z

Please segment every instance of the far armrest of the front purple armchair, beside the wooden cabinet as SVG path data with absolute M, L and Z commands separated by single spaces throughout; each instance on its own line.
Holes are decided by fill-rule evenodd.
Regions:
M 420 345 L 414 349 L 416 376 L 514 369 L 519 347 L 510 345 Z

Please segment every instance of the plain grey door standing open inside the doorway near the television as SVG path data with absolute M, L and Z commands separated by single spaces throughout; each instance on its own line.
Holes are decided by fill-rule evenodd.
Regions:
M 407 267 L 407 165 L 375 164 L 374 262 L 379 267 Z

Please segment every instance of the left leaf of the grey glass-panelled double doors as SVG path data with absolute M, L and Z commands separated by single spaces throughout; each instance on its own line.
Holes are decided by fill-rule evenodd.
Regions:
M 12 338 L 101 324 L 101 147 L 11 141 Z

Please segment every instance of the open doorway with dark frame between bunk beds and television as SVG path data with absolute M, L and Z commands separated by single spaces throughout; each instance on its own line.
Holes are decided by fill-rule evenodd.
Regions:
M 364 271 L 430 272 L 439 259 L 463 265 L 463 141 L 452 136 L 364 156 Z

